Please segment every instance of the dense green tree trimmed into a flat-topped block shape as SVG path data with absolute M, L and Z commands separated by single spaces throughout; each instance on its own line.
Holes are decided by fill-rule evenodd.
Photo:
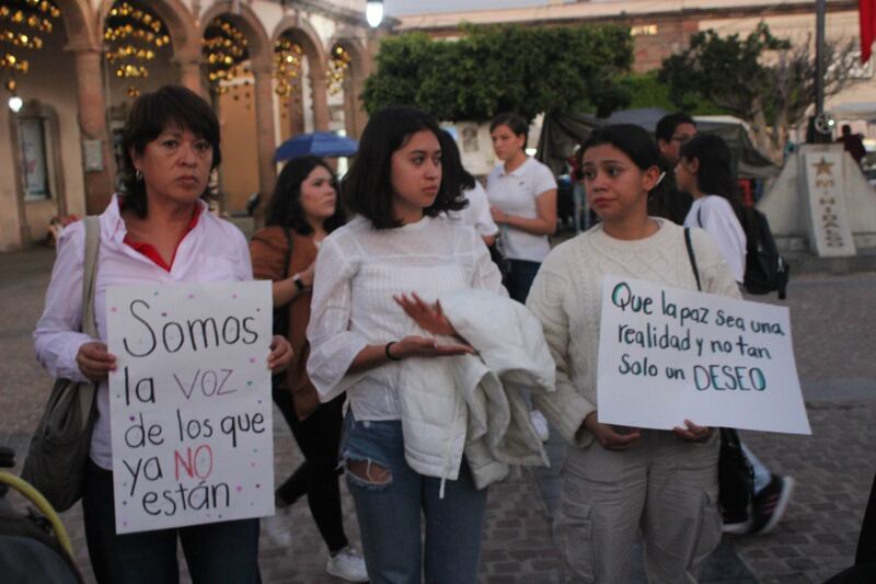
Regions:
M 369 112 L 415 105 L 440 119 L 488 119 L 517 112 L 596 108 L 608 115 L 630 102 L 619 77 L 633 43 L 621 26 L 462 26 L 456 41 L 425 33 L 385 38 L 365 83 Z

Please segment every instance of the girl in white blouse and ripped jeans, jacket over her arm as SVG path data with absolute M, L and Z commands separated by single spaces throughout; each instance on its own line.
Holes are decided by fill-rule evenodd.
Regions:
M 465 203 L 458 184 L 441 180 L 439 133 L 411 107 L 371 116 L 342 186 L 358 217 L 326 237 L 316 259 L 308 373 L 321 400 L 349 399 L 342 450 L 374 583 L 418 583 L 420 573 L 426 582 L 477 581 L 486 490 L 475 489 L 464 458 L 453 480 L 412 469 L 401 423 L 403 374 L 416 362 L 400 362 L 472 352 L 452 339 L 437 305 L 418 298 L 504 294 L 484 242 L 446 215 Z M 439 388 L 430 398 L 442 399 Z

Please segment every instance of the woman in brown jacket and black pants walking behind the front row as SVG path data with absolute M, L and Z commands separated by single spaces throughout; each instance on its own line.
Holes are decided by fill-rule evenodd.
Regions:
M 307 328 L 316 254 L 325 237 L 346 222 L 338 204 L 335 175 L 314 156 L 286 163 L 265 211 L 265 227 L 253 233 L 250 253 L 256 279 L 273 280 L 275 332 L 292 345 L 295 357 L 285 374 L 274 378 L 272 397 L 304 456 L 275 491 L 277 514 L 265 518 L 268 537 L 281 548 L 291 546 L 289 512 L 307 495 L 310 514 L 328 548 L 326 572 L 348 582 L 367 582 L 365 560 L 344 533 L 337 450 L 341 446 L 344 396 L 320 403 L 308 377 L 310 345 Z M 280 330 L 277 330 L 277 325 Z

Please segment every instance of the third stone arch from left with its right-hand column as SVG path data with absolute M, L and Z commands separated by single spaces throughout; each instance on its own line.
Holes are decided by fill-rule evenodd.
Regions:
M 267 201 L 274 191 L 276 169 L 274 165 L 274 98 L 272 90 L 272 57 L 273 45 L 258 18 L 245 4 L 239 4 L 240 10 L 232 10 L 232 2 L 222 0 L 214 4 L 200 16 L 198 43 L 203 38 L 207 26 L 217 16 L 228 20 L 246 38 L 250 53 L 250 69 L 255 78 L 255 130 L 256 157 L 258 167 L 258 193 L 262 201 Z M 198 49 L 199 50 L 199 49 Z M 221 115 L 221 111 L 219 112 Z M 251 127 L 252 130 L 252 127 Z M 231 160 L 232 152 L 226 152 L 226 161 Z M 223 164 L 228 167 L 227 164 Z M 240 205 L 235 205 L 240 207 Z

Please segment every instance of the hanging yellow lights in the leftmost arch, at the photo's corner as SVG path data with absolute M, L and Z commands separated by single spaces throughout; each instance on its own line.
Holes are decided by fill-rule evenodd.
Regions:
M 31 68 L 24 50 L 43 48 L 41 34 L 51 34 L 51 21 L 60 15 L 61 11 L 51 0 L 11 0 L 0 5 L 0 75 L 5 78 L 3 85 L 12 93 L 10 107 L 14 102 L 18 110 L 21 108 L 15 76 L 25 75 Z

